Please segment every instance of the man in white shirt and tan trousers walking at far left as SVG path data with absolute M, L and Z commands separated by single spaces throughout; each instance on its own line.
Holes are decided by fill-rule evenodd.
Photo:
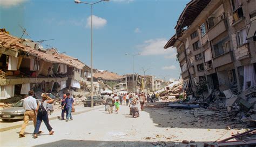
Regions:
M 33 90 L 29 91 L 29 96 L 23 100 L 23 108 L 25 109 L 24 113 L 24 122 L 22 124 L 21 131 L 19 132 L 19 138 L 25 137 L 24 132 L 26 125 L 29 123 L 29 120 L 33 120 L 34 127 L 36 127 L 36 99 L 32 97 L 34 94 Z M 40 132 L 39 132 L 40 133 Z

